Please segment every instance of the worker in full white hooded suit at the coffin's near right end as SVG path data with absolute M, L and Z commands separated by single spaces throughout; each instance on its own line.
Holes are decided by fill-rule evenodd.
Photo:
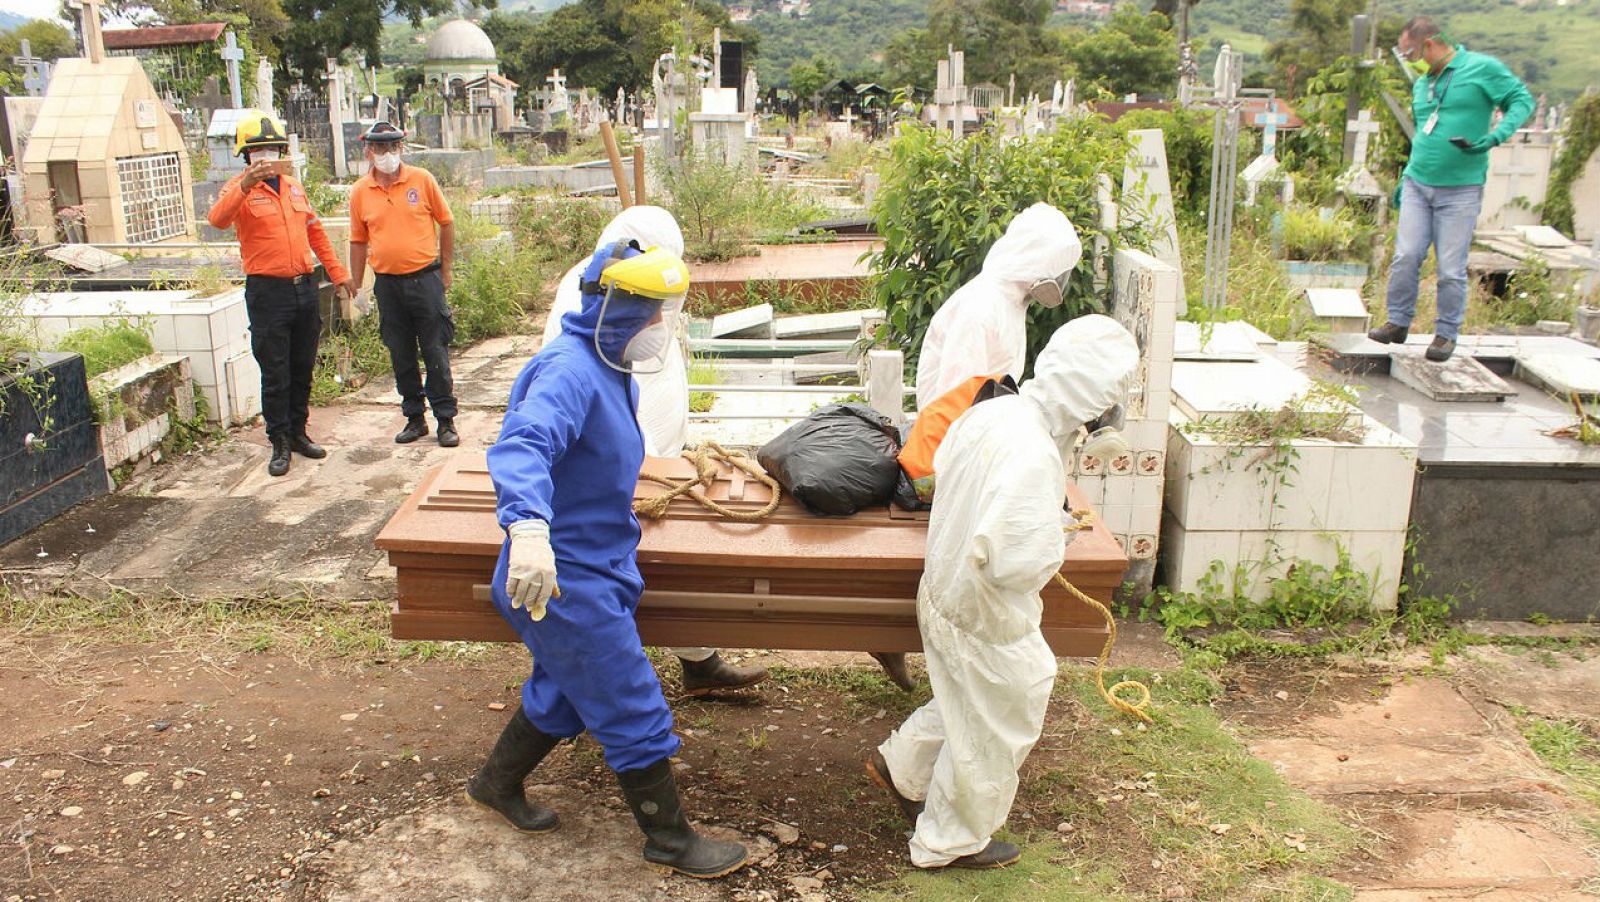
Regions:
M 1139 349 L 1117 321 L 1061 326 L 1021 393 L 968 409 L 934 454 L 939 493 L 917 592 L 933 700 L 875 752 L 867 772 L 915 822 L 917 867 L 1003 867 L 992 840 L 1038 740 L 1056 656 L 1040 590 L 1066 557 L 1066 461 L 1080 427 L 1122 403 Z

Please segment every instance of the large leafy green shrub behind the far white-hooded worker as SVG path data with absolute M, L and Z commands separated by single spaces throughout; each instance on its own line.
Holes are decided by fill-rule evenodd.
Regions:
M 902 125 L 890 144 L 883 187 L 872 214 L 883 251 L 872 259 L 877 302 L 890 334 L 914 365 L 933 313 L 982 269 L 984 254 L 1011 218 L 1045 202 L 1066 213 L 1083 241 L 1083 259 L 1061 307 L 1029 309 L 1029 363 L 1061 323 L 1109 307 L 1110 286 L 1094 286 L 1120 246 L 1149 248 L 1134 226 L 1099 226 L 1096 182 L 1118 178 L 1128 141 L 1101 118 L 1072 118 L 1054 131 L 1011 139 L 986 128 L 955 141 L 922 125 Z M 1094 243 L 1106 238 L 1106 257 Z

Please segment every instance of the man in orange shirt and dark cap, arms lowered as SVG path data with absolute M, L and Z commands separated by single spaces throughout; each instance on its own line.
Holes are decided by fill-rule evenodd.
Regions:
M 395 441 L 406 445 L 427 435 L 422 413 L 430 406 L 438 421 L 438 443 L 454 448 L 461 443 L 450 379 L 450 341 L 456 323 L 445 301 L 456 249 L 454 219 L 434 176 L 400 163 L 403 131 L 379 122 L 362 141 L 370 168 L 350 190 L 350 269 L 357 285 L 366 275 L 368 257 L 378 273 L 373 294 L 378 296 L 379 331 L 394 361 L 400 413 L 406 417 Z M 426 385 L 416 363 L 418 350 L 427 366 Z

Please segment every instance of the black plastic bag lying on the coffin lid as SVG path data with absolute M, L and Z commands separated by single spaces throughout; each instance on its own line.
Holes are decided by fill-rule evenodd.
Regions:
M 894 494 L 899 449 L 886 416 L 866 405 L 829 405 L 763 445 L 755 459 L 811 513 L 850 517 Z

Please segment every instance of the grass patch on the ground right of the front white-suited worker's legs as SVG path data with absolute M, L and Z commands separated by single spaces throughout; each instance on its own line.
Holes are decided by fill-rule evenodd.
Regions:
M 1072 713 L 1046 724 L 1024 774 L 1018 808 L 1035 817 L 1011 819 L 1010 838 L 1024 846 L 1018 865 L 912 873 L 867 899 L 1352 897 L 1325 873 L 1355 848 L 1355 832 L 1250 755 L 1208 705 L 1221 692 L 1211 673 L 1186 665 L 1107 675 L 1125 678 L 1150 686 L 1149 729 L 1112 720 L 1086 669 L 1058 680 L 1056 710 Z M 1056 832 L 1058 822 L 1069 832 Z

